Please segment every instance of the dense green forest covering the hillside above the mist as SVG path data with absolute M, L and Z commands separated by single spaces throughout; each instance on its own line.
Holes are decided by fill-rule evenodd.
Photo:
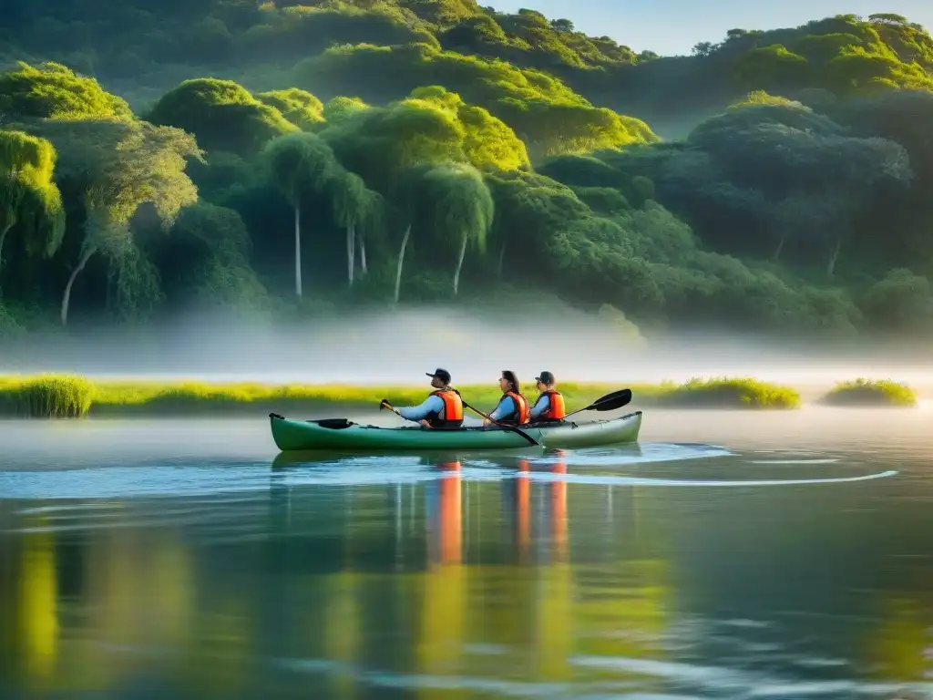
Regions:
M 0 338 L 545 295 L 933 330 L 933 38 L 898 15 L 660 57 L 475 0 L 6 6 Z

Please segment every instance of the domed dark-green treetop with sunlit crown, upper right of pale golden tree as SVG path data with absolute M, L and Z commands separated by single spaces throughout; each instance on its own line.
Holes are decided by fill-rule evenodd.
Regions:
M 266 99 L 281 98 L 279 94 Z M 296 99 L 294 94 L 288 96 L 290 103 Z M 204 150 L 242 156 L 255 154 L 276 136 L 298 128 L 238 83 L 208 77 L 186 80 L 166 92 L 146 119 L 193 133 Z

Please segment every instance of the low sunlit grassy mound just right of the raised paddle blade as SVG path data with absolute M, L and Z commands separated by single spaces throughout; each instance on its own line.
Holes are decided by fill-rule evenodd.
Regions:
M 659 397 L 661 406 L 671 408 L 796 409 L 801 397 L 787 386 L 757 379 L 691 379 Z

